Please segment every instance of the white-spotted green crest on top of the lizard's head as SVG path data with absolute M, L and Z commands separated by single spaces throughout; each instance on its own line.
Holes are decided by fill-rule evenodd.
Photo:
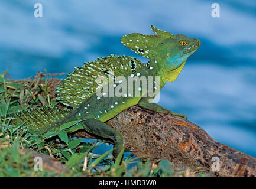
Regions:
M 128 34 L 121 38 L 121 43 L 137 54 L 154 60 L 153 49 L 165 38 L 176 38 L 173 34 L 160 30 L 151 25 L 151 30 L 157 35 Z

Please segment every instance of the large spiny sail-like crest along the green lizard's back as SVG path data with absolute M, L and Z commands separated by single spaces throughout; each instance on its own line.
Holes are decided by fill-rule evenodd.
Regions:
M 75 67 L 73 73 L 67 74 L 67 79 L 57 87 L 57 100 L 66 106 L 79 107 L 86 99 L 96 94 L 99 84 L 98 77 L 108 79 L 114 72 L 115 76 L 136 74 L 137 69 L 145 66 L 134 57 L 112 54 L 108 57 L 99 57 L 92 62 L 86 62 L 82 67 Z M 114 79 L 115 80 L 115 79 Z

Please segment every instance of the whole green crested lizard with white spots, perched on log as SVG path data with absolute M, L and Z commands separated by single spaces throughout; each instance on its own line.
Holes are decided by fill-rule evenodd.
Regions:
M 75 67 L 75 71 L 67 74 L 67 79 L 57 87 L 57 99 L 64 105 L 73 107 L 73 110 L 66 111 L 50 107 L 25 110 L 16 115 L 11 124 L 33 123 L 31 128 L 48 131 L 66 122 L 81 121 L 79 125 L 72 126 L 69 132 L 85 129 L 99 138 L 110 139 L 114 142 L 113 156 L 116 158 L 123 148 L 122 136 L 104 122 L 114 118 L 128 107 L 138 105 L 155 112 L 171 113 L 186 118 L 185 115 L 173 113 L 157 104 L 149 103 L 154 97 L 148 97 L 147 90 L 142 90 L 140 96 L 134 97 L 134 94 L 128 93 L 128 84 L 127 94 L 124 96 L 108 96 L 110 90 L 121 87 L 119 83 L 121 79 L 114 79 L 115 87 L 111 83 L 108 76 L 112 71 L 115 72 L 115 76 L 124 76 L 127 81 L 129 76 L 153 76 L 153 78 L 159 76 L 160 89 L 157 90 L 160 91 L 167 81 L 176 80 L 187 58 L 200 46 L 200 41 L 195 38 L 181 34 L 174 36 L 153 26 L 151 29 L 157 35 L 129 34 L 121 39 L 123 45 L 150 59 L 148 63 L 143 64 L 133 57 L 116 55 L 86 62 L 82 67 Z M 114 87 L 109 89 L 106 96 L 96 95 L 96 89 L 101 87 L 96 83 L 98 76 L 108 77 L 108 84 L 111 83 L 109 86 Z M 133 89 L 133 91 L 138 90 L 135 86 Z

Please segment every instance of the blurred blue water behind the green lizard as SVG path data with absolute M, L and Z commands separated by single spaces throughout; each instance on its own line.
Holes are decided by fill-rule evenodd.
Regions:
M 34 17 L 37 2 L 43 18 Z M 13 79 L 44 69 L 70 73 L 109 54 L 146 62 L 120 38 L 153 34 L 151 24 L 199 38 L 201 47 L 161 90 L 159 104 L 187 115 L 216 141 L 256 157 L 256 1 L 214 2 L 220 18 L 211 16 L 213 1 L 203 0 L 0 1 L 0 72 L 12 66 Z

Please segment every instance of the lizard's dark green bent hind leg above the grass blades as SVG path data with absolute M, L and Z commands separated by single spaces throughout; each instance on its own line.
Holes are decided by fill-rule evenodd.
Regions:
M 122 135 L 106 123 L 89 118 L 82 122 L 83 128 L 100 138 L 110 139 L 114 143 L 113 157 L 114 160 L 123 149 Z

